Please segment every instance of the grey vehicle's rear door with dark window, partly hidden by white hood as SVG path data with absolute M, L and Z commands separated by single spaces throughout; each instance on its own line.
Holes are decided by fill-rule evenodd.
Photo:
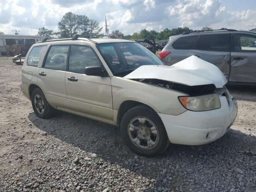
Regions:
M 230 70 L 230 34 L 201 35 L 194 54 L 216 65 L 228 79 Z

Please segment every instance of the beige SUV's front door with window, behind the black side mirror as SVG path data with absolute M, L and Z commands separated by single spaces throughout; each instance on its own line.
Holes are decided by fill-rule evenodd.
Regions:
M 102 66 L 89 46 L 72 45 L 65 84 L 70 110 L 113 120 L 110 77 L 88 76 L 87 66 Z

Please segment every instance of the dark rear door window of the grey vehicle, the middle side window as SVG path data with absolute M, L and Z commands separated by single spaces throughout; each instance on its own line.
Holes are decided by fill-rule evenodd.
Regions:
M 230 34 L 202 35 L 198 50 L 230 52 Z

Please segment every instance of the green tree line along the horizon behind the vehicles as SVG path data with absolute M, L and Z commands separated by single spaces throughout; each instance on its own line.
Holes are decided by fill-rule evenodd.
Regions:
M 68 12 L 62 16 L 60 22 L 58 22 L 58 32 L 53 32 L 53 30 L 48 30 L 44 27 L 39 28 L 39 36 L 58 36 L 58 37 L 72 37 L 74 34 L 80 35 L 104 35 L 102 28 L 94 19 L 90 19 L 85 15 L 76 15 L 72 12 Z M 212 30 L 209 27 L 204 27 L 202 30 Z M 157 40 L 167 40 L 170 36 L 182 34 L 183 32 L 192 32 L 193 30 L 188 27 L 178 27 L 173 29 L 165 28 L 163 31 L 157 32 L 155 30 L 143 29 L 139 33 L 135 32 L 132 35 L 124 35 L 119 30 L 114 30 L 110 33 L 110 36 L 115 38 L 126 38 L 126 39 L 157 39 Z

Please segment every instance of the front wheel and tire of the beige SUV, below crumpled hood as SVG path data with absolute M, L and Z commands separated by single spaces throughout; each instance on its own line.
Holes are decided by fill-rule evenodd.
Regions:
M 142 156 L 155 156 L 170 144 L 162 120 L 145 105 L 135 106 L 124 114 L 120 132 L 126 145 Z

